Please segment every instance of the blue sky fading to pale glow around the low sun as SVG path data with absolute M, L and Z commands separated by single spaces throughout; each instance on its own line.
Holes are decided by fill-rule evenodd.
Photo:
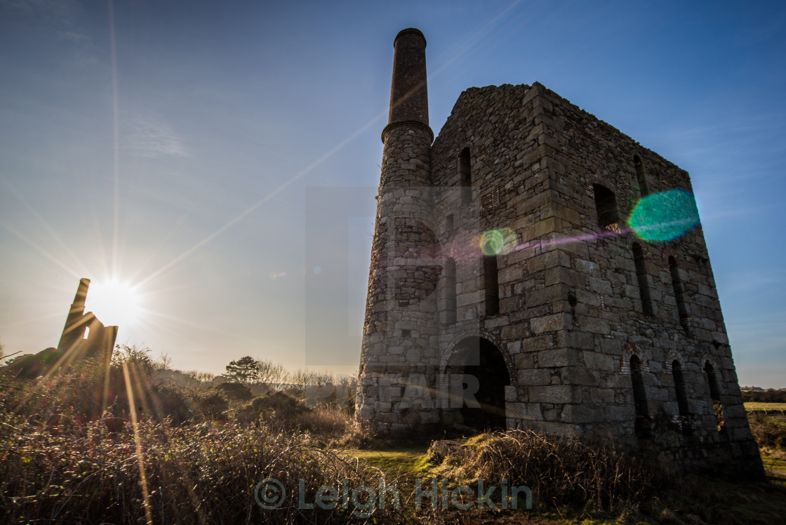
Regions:
M 114 275 L 145 309 L 119 343 L 180 369 L 314 365 L 307 191 L 370 200 L 393 38 L 417 27 L 435 132 L 470 86 L 539 81 L 689 171 L 740 383 L 786 387 L 783 2 L 109 6 L 0 0 L 6 352 L 56 345 L 79 277 Z M 340 372 L 358 362 L 370 224 L 336 234 Z

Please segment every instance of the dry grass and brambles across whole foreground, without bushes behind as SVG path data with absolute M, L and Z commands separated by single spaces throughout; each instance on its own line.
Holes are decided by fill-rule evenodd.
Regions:
M 399 487 L 402 509 L 367 523 L 774 524 L 786 516 L 784 487 L 679 474 L 664 481 L 604 447 L 516 431 L 476 436 L 438 458 L 415 444 L 333 452 L 314 435 L 264 425 L 139 420 L 109 431 L 104 420 L 0 416 L 0 523 L 138 523 L 148 514 L 153 523 L 364 523 L 340 508 L 263 512 L 253 489 L 264 477 L 291 490 L 304 479 L 314 501 L 318 486 L 377 486 L 384 476 Z M 434 477 L 450 487 L 478 477 L 526 484 L 538 508 L 415 510 L 413 480 Z

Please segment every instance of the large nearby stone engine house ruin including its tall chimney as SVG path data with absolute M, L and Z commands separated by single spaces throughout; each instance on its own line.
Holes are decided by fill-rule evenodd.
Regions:
M 647 240 L 626 223 L 645 197 L 690 196 L 688 173 L 539 83 L 466 90 L 434 138 L 424 35 L 394 47 L 358 421 L 762 472 L 701 226 Z M 645 218 L 681 222 L 685 203 L 652 203 Z

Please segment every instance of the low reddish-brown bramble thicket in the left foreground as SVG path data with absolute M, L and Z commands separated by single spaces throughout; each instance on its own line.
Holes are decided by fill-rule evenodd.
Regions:
M 111 432 L 105 420 L 0 422 L 0 523 L 345 523 L 340 508 L 298 508 L 296 494 L 263 510 L 255 486 L 275 478 L 292 493 L 302 479 L 314 501 L 319 486 L 376 486 L 378 476 L 266 428 L 140 420 Z M 398 521 L 390 508 L 374 516 Z

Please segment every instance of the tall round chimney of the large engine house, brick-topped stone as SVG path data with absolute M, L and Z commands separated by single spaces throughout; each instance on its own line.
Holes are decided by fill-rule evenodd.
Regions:
M 439 243 L 432 221 L 434 133 L 428 127 L 426 39 L 410 28 L 400 31 L 393 45 L 358 387 L 359 419 L 380 434 L 439 419 L 433 402 L 417 412 L 406 409 L 414 392 L 422 394 L 435 384 L 431 349 L 439 332 L 435 312 L 441 266 L 434 257 Z M 380 403 L 380 388 L 405 395 Z

